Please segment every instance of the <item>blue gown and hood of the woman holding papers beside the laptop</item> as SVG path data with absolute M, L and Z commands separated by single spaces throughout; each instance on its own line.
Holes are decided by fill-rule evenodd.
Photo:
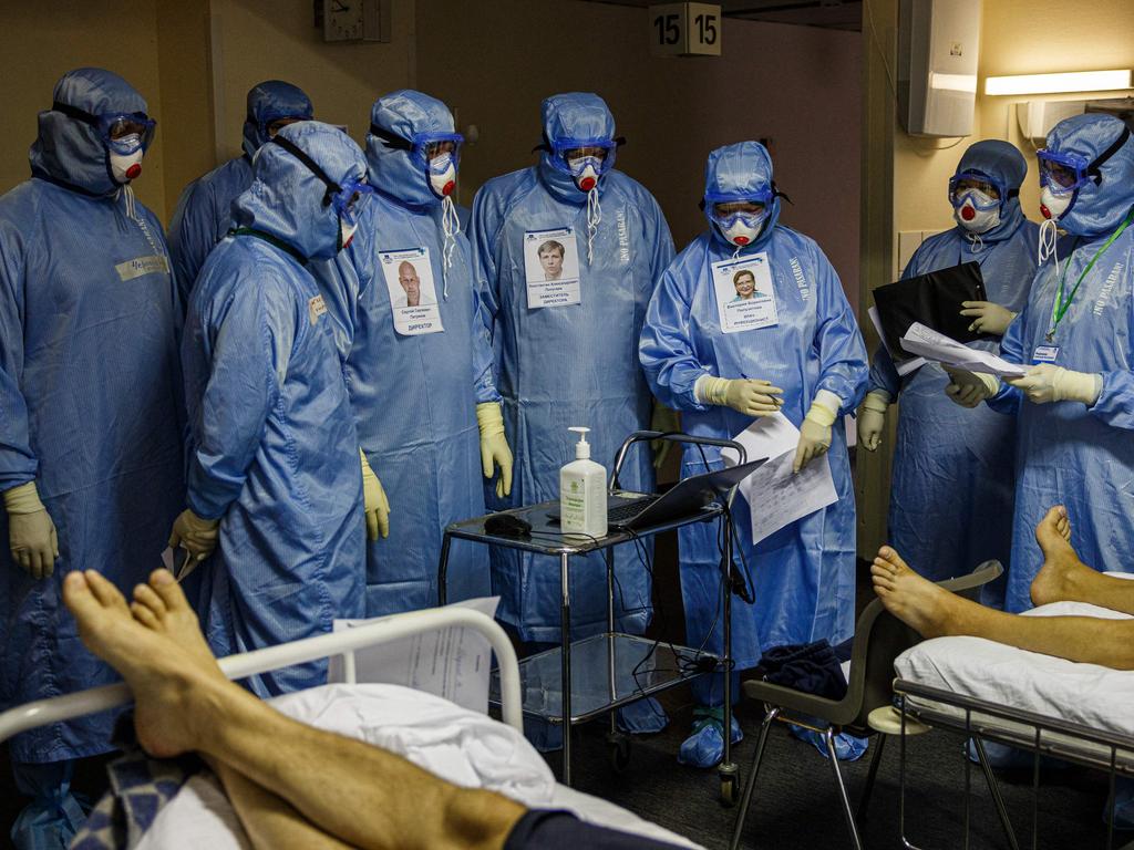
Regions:
M 771 160 L 762 145 L 743 142 L 709 156 L 706 193 L 753 194 L 769 187 Z M 827 638 L 832 645 L 854 630 L 855 507 L 843 415 L 856 408 L 866 389 L 866 351 L 838 274 L 815 243 L 777 223 L 779 198 L 760 236 L 739 250 L 765 252 L 779 323 L 723 333 L 711 264 L 737 253 L 712 227 L 694 239 L 666 270 L 650 301 L 640 354 L 658 398 L 682 411 L 683 428 L 699 436 L 730 439 L 752 418 L 728 407 L 706 406 L 694 396 L 701 375 L 771 381 L 784 390 L 784 415 L 803 424 L 820 390 L 843 401 L 828 452 L 838 502 L 793 522 L 756 545 L 745 500 L 733 503 L 743 561 L 754 584 L 755 604 L 733 600 L 733 653 L 741 669 L 755 665 L 762 651 L 781 644 Z M 720 451 L 705 448 L 711 469 Z M 705 470 L 696 447 L 686 447 L 682 475 Z M 720 551 L 712 524 L 678 532 L 682 595 L 691 646 L 722 648 L 719 603 Z M 737 569 L 743 570 L 737 559 Z M 714 628 L 716 624 L 716 628 Z M 710 702 L 706 696 L 699 697 Z M 717 702 L 719 694 L 711 702 Z

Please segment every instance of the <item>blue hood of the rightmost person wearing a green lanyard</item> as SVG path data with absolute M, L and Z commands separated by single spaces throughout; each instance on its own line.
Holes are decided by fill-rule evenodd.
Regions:
M 1074 153 L 1093 162 L 1110 147 L 1125 126 L 1114 116 L 1088 113 L 1067 118 L 1048 134 L 1047 150 Z M 1059 216 L 1059 227 L 1076 236 L 1111 233 L 1134 205 L 1134 137 L 1100 168 L 1101 180 L 1076 192 L 1070 209 Z

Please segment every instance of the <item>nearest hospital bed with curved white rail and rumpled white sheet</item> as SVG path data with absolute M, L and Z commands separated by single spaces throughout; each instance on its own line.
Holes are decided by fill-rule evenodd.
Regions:
M 496 653 L 500 668 L 502 723 L 422 691 L 390 685 L 356 683 L 357 653 L 413 636 L 454 628 L 464 628 L 482 635 Z M 231 655 L 220 658 L 219 663 L 225 674 L 235 680 L 328 657 L 341 658 L 346 683 L 323 686 L 312 691 L 287 695 L 273 700 L 276 706 L 286 714 L 308 720 L 321 728 L 371 741 L 374 739 L 366 733 L 367 730 L 386 734 L 400 722 L 407 728 L 413 728 L 411 737 L 415 739 L 415 746 L 406 747 L 403 755 L 431 770 L 452 760 L 452 740 L 448 741 L 449 747 L 440 757 L 431 760 L 425 751 L 428 747 L 421 745 L 422 740 L 429 737 L 421 734 L 423 719 L 445 717 L 449 724 L 479 724 L 474 731 L 474 738 L 483 740 L 485 737 L 496 737 L 505 741 L 503 746 L 510 747 L 508 759 L 513 784 L 509 787 L 525 789 L 526 798 L 525 794 L 521 793 L 511 796 L 525 805 L 568 809 L 583 821 L 649 836 L 677 847 L 699 847 L 688 839 L 649 823 L 626 809 L 555 782 L 547 764 L 523 737 L 519 670 L 516 653 L 503 630 L 485 614 L 456 606 L 396 614 L 345 631 Z M 0 740 L 7 740 L 14 734 L 46 723 L 113 708 L 129 700 L 130 695 L 126 686 L 113 685 L 28 703 L 0 714 Z M 338 712 L 336 715 L 337 700 L 348 702 L 349 709 Z M 400 706 L 398 719 L 393 722 L 389 722 L 389 716 L 382 713 L 388 711 L 391 704 Z M 359 706 L 365 711 L 359 712 Z M 365 712 L 373 713 L 366 714 Z M 339 720 L 333 720 L 336 716 Z M 406 720 L 409 716 L 413 719 Z M 320 720 L 315 722 L 314 717 Z M 328 721 L 327 717 L 332 720 Z M 342 721 L 342 717 L 350 720 L 349 722 Z M 488 736 L 485 736 L 486 729 L 490 729 Z M 384 740 L 382 742 L 384 746 Z M 465 773 L 458 773 L 457 776 L 447 775 L 442 770 L 434 770 L 434 772 L 447 775 L 455 781 L 460 781 L 462 776 L 467 777 L 469 767 L 472 773 L 476 775 L 489 775 L 492 772 L 491 770 L 479 771 L 475 764 L 463 765 L 463 767 Z M 463 782 L 463 784 L 471 783 Z M 481 784 L 480 787 L 490 785 Z M 497 787 L 494 790 L 508 793 L 507 788 Z M 151 847 L 198 848 L 208 845 L 211 850 L 249 847 L 246 836 L 243 835 L 239 822 L 227 800 L 223 799 L 219 785 L 208 779 L 194 777 L 186 783 L 177 797 L 159 815 L 153 824 L 153 830 L 160 831 L 161 834 L 150 840 L 149 845 Z M 171 841 L 170 836 L 176 836 L 176 841 Z M 143 836 L 143 840 L 145 841 L 146 838 L 150 838 L 149 834 Z

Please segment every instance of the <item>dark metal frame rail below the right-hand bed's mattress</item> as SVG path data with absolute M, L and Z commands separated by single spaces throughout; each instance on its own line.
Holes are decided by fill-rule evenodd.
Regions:
M 908 850 L 920 850 L 906 838 L 905 799 L 906 799 L 906 719 L 907 716 L 926 725 L 945 728 L 968 736 L 974 745 L 978 762 L 988 782 L 992 802 L 1004 826 L 1006 838 L 1013 850 L 1018 850 L 1019 842 L 1008 817 L 999 784 L 984 753 L 983 741 L 996 741 L 1018 749 L 1029 750 L 1032 757 L 1032 830 L 1031 847 L 1039 848 L 1039 791 L 1040 760 L 1048 756 L 1064 762 L 1070 762 L 1084 767 L 1105 771 L 1109 780 L 1109 817 L 1107 818 L 1107 850 L 1112 850 L 1115 842 L 1115 780 L 1119 774 L 1134 776 L 1134 736 L 1120 734 L 1107 730 L 1092 729 L 1081 723 L 1051 717 L 1023 708 L 1014 708 L 997 703 L 989 703 L 964 694 L 922 685 L 908 679 L 896 679 L 894 695 L 902 715 L 902 756 L 899 765 L 899 811 L 898 821 L 902 831 L 902 843 Z M 917 700 L 930 700 L 929 704 Z M 958 716 L 949 712 L 963 713 Z M 990 722 L 991 720 L 1012 723 L 1014 728 L 1006 729 Z M 1030 731 L 1029 731 L 1030 730 Z M 1058 736 L 1058 737 L 1053 737 Z M 1082 746 L 1077 746 L 1082 745 Z M 965 808 L 964 826 L 965 843 L 970 839 L 970 801 L 971 801 L 972 760 L 965 757 Z

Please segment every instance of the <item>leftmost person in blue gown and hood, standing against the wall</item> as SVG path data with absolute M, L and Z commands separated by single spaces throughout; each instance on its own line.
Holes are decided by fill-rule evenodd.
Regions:
M 124 590 L 145 580 L 184 488 L 181 309 L 161 224 L 129 188 L 154 121 L 98 68 L 64 75 L 53 100 L 32 179 L 0 198 L 3 708 L 118 679 L 79 644 L 60 583 L 74 569 Z M 84 817 L 67 791 L 71 759 L 110 750 L 112 720 L 11 741 L 17 782 L 36 798 L 17 847 L 66 845 Z

